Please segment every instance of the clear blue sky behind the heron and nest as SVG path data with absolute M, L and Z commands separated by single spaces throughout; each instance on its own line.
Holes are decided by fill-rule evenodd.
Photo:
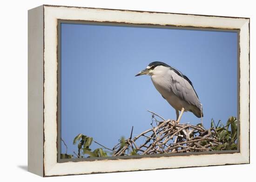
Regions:
M 153 61 L 187 75 L 203 106 L 203 124 L 237 116 L 237 33 L 111 25 L 61 24 L 61 138 L 68 153 L 83 133 L 112 148 L 121 136 L 150 128 L 151 114 L 175 119 L 147 75 Z M 182 123 L 200 123 L 184 113 Z M 100 147 L 92 144 L 92 148 Z M 65 146 L 61 144 L 62 152 Z

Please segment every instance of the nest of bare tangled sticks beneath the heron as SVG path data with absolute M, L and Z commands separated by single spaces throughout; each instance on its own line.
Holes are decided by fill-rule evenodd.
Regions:
M 206 130 L 201 124 L 180 124 L 161 116 L 158 117 L 162 121 L 158 121 L 155 115 L 158 116 L 153 113 L 152 128 L 134 138 L 132 128 L 130 138 L 115 145 L 113 156 L 212 151 L 220 144 L 214 128 Z

